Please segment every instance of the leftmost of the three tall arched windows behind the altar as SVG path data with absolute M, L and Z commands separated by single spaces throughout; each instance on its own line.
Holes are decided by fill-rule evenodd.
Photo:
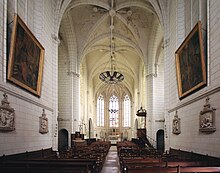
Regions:
M 97 126 L 104 126 L 104 97 L 102 95 L 97 99 Z

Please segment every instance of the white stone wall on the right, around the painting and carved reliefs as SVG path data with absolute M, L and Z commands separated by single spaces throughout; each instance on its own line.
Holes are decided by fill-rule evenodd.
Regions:
M 191 2 L 191 1 L 190 1 Z M 187 12 L 191 14 L 191 26 L 195 25 L 196 18 L 205 20 L 203 12 L 182 10 L 188 7 L 189 1 L 171 1 L 170 5 L 170 32 L 165 33 L 165 38 L 169 38 L 169 44 L 165 45 L 165 133 L 167 134 L 166 149 L 169 147 L 186 151 L 193 151 L 211 156 L 220 157 L 220 49 L 219 49 L 219 7 L 220 1 L 208 1 L 208 86 L 197 91 L 186 98 L 179 100 L 175 69 L 175 51 L 185 35 L 188 34 L 187 27 L 184 27 L 184 15 Z M 197 1 L 193 1 L 194 6 Z M 204 10 L 204 1 L 200 1 L 199 7 Z M 186 15 L 187 15 L 186 14 Z M 187 15 L 188 16 L 188 15 Z M 189 16 L 187 17 L 189 18 Z M 203 22 L 204 24 L 204 22 Z M 192 29 L 192 28 L 191 28 Z M 190 29 L 190 30 L 191 30 Z M 170 34 L 172 33 L 172 34 Z M 204 134 L 199 132 L 199 113 L 203 110 L 205 99 L 209 97 L 211 106 L 216 108 L 216 132 Z M 178 110 L 178 116 L 181 119 L 181 134 L 172 134 L 172 120 L 175 111 Z M 165 135 L 166 136 L 166 135 Z

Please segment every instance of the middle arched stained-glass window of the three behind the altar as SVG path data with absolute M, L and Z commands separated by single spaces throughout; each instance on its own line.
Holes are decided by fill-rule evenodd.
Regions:
M 115 95 L 113 95 L 109 100 L 110 127 L 118 127 L 118 110 L 119 110 L 118 98 Z

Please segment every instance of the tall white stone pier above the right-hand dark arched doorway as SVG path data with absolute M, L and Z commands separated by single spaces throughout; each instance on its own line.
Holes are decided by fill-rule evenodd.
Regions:
M 164 119 L 164 56 L 161 25 L 154 22 L 149 45 L 146 74 L 147 136 L 156 141 L 156 133 L 163 129 Z M 155 143 L 153 144 L 155 145 Z

